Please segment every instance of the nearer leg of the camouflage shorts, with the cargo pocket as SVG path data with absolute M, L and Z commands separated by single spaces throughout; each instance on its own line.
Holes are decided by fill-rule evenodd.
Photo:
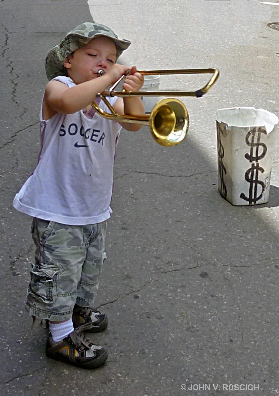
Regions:
M 86 257 L 82 227 L 34 219 L 35 264 L 27 293 L 29 314 L 63 322 L 72 317 Z

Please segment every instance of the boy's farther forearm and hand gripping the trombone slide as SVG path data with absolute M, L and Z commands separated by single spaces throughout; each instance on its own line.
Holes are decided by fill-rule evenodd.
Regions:
M 126 91 L 137 92 L 143 86 L 144 77 L 137 73 L 135 66 L 132 67 L 130 74 L 125 78 L 123 83 L 123 89 Z M 130 115 L 144 115 L 145 109 L 140 97 L 123 97 L 118 98 L 113 108 L 118 114 L 130 114 Z M 128 122 L 120 122 L 120 125 L 127 131 L 138 131 L 141 128 L 141 124 L 133 124 Z

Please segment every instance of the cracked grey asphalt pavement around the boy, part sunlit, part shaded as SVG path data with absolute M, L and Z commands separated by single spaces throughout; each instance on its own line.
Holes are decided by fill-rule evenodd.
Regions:
M 12 201 L 36 166 L 46 53 L 92 18 L 132 40 L 123 63 L 220 78 L 182 98 L 180 145 L 158 145 L 147 127 L 122 132 L 96 299 L 110 323 L 90 335 L 109 359 L 88 371 L 48 359 L 47 329 L 27 316 L 31 219 Z M 279 116 L 278 28 L 274 0 L 0 1 L 0 396 L 278 394 L 279 141 L 268 203 L 233 206 L 218 192 L 215 121 L 227 107 Z M 160 89 L 207 79 L 161 76 Z

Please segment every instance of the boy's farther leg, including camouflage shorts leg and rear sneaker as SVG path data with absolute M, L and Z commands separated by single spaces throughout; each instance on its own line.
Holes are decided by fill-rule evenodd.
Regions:
M 78 297 L 74 307 L 74 327 L 85 323 L 92 327 L 87 331 L 96 333 L 104 330 L 108 325 L 105 314 L 93 308 L 94 298 L 99 288 L 105 254 L 105 237 L 107 222 L 94 225 L 93 233 L 87 244 L 86 259 L 83 264 L 81 280 L 78 285 Z

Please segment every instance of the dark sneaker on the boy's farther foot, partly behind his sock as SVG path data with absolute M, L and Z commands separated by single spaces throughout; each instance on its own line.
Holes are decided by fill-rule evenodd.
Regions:
M 73 323 L 75 328 L 79 328 L 79 326 L 86 323 L 90 324 L 91 326 L 85 331 L 97 333 L 107 328 L 108 317 L 106 314 L 96 311 L 95 309 L 75 305 L 73 311 Z

